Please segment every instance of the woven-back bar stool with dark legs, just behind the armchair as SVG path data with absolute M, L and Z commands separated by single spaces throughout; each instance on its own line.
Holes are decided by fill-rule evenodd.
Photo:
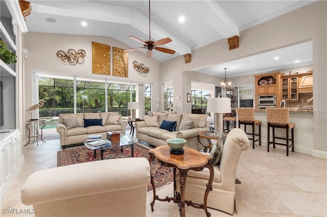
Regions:
M 254 143 L 259 141 L 259 145 L 261 146 L 261 124 L 262 122 L 259 120 L 254 120 L 254 109 L 253 108 L 237 108 L 237 117 L 239 119 L 239 128 L 241 128 L 241 124 L 244 124 L 244 132 L 248 135 L 252 135 L 252 147 L 254 149 Z M 246 132 L 246 126 L 252 126 L 252 132 Z M 259 134 L 255 134 L 255 126 L 259 126 Z M 258 135 L 258 139 L 255 139 L 255 135 Z

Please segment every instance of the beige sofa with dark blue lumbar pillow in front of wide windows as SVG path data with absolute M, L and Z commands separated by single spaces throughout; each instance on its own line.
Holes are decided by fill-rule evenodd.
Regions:
M 107 124 L 109 114 L 117 117 L 117 124 Z M 78 127 L 67 129 L 63 124 L 63 117 L 74 117 L 78 121 Z M 116 112 L 106 112 L 106 113 L 75 113 L 75 114 L 59 114 L 59 123 L 57 124 L 57 132 L 60 134 L 60 145 L 62 149 L 66 148 L 66 145 L 82 143 L 86 140 L 88 135 L 101 134 L 102 138 L 107 137 L 108 131 L 117 131 L 125 134 L 125 127 L 127 126 L 127 121 L 121 119 L 121 115 Z M 102 119 L 103 126 L 88 126 L 84 127 L 84 119 Z

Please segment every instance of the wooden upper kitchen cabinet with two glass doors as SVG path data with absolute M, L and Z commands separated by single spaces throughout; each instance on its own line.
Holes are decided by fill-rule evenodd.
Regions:
M 282 76 L 282 99 L 286 101 L 298 101 L 297 76 Z

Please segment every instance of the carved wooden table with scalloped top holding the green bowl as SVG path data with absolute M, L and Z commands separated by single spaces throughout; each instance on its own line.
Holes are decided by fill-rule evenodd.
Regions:
M 153 173 L 151 173 L 151 185 L 153 189 L 153 200 L 151 202 L 151 210 L 153 211 L 154 201 L 174 201 L 179 206 L 179 214 L 182 217 L 185 217 L 185 203 L 188 206 L 192 206 L 195 208 L 203 209 L 205 211 L 206 216 L 210 216 L 210 212 L 207 210 L 207 197 L 210 191 L 212 191 L 212 183 L 214 179 L 214 169 L 209 162 L 211 159 L 210 155 L 201 154 L 195 149 L 184 147 L 183 154 L 171 154 L 170 147 L 168 145 L 159 146 L 154 149 L 149 150 L 149 163 L 157 158 L 161 165 L 166 167 L 173 167 L 174 168 L 174 197 L 166 197 L 165 199 L 159 198 L 155 195 L 155 187 L 153 182 Z M 206 190 L 204 194 L 204 201 L 203 204 L 193 204 L 192 201 L 185 200 L 185 183 L 186 183 L 186 176 L 189 170 L 195 171 L 202 171 L 204 168 L 208 168 L 210 175 L 209 181 L 206 185 Z M 179 170 L 179 184 L 180 184 L 180 193 L 176 192 L 176 168 Z

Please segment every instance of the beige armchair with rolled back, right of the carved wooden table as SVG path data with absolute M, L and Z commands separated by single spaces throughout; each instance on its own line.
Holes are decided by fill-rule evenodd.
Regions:
M 229 131 L 224 143 L 223 154 L 219 165 L 214 166 L 213 191 L 207 198 L 207 206 L 229 214 L 236 210 L 235 175 L 242 151 L 250 147 L 246 133 L 240 128 Z M 209 154 L 209 153 L 204 153 Z M 185 199 L 196 204 L 203 204 L 209 170 L 188 171 L 185 186 Z M 176 186 L 179 188 L 179 176 L 176 174 Z M 179 191 L 179 189 L 177 189 Z

